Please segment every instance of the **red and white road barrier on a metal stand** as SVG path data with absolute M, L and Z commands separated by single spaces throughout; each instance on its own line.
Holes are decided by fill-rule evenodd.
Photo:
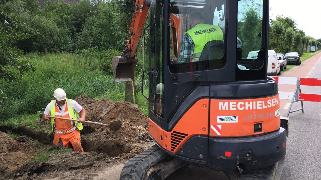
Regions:
M 320 102 L 321 95 L 320 94 L 308 94 L 301 92 L 301 86 L 321 86 L 321 79 L 320 78 L 294 78 L 294 77 L 272 77 L 276 80 L 278 84 L 285 84 L 285 85 L 296 85 L 295 91 L 292 92 L 282 92 L 279 91 L 280 99 L 290 99 L 291 104 L 286 115 L 286 118 L 289 117 L 289 114 L 292 112 L 296 112 L 299 110 L 303 111 L 303 101 L 310 101 L 310 102 Z M 292 110 L 293 102 L 301 102 L 301 108 L 297 110 Z

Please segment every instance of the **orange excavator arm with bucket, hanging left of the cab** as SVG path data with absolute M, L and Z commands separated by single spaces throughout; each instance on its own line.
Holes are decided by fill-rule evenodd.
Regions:
M 132 81 L 135 77 L 137 64 L 137 45 L 142 35 L 150 0 L 136 0 L 135 12 L 130 26 L 130 38 L 125 40 L 126 49 L 120 56 L 112 59 L 114 80 L 116 82 Z

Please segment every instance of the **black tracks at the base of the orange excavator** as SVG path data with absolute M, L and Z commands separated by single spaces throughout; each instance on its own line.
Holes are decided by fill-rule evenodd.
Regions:
M 230 180 L 280 180 L 284 158 L 271 166 L 241 173 L 230 171 L 226 176 Z M 120 173 L 120 180 L 169 179 L 174 172 L 189 165 L 187 161 L 173 158 L 156 144 L 130 159 Z

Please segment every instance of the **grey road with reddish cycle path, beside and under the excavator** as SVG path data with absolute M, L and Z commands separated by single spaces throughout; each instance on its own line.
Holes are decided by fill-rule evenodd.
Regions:
M 320 54 L 309 58 L 291 70 L 281 74 L 282 77 L 320 78 Z M 294 92 L 295 86 L 280 85 L 279 91 Z M 320 87 L 301 86 L 302 93 L 320 94 Z M 281 115 L 286 115 L 290 100 L 281 100 Z M 292 110 L 299 109 L 300 102 L 293 103 Z M 284 161 L 282 180 L 320 179 L 320 102 L 303 102 L 304 113 L 290 114 L 287 153 Z M 222 172 L 189 166 L 173 178 L 174 180 L 225 180 Z

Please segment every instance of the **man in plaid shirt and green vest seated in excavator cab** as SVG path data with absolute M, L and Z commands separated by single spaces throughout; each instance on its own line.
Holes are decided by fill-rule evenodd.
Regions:
M 219 26 L 204 24 L 204 14 L 200 11 L 192 11 L 188 16 L 190 30 L 185 32 L 180 55 L 170 56 L 172 64 L 180 64 L 199 61 L 201 53 L 206 43 L 214 40 L 223 40 L 223 31 Z

